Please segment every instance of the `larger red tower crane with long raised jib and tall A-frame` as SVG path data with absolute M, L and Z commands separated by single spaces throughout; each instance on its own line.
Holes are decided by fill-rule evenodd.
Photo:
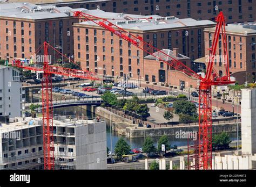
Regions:
M 74 17 L 84 19 L 86 21 L 92 21 L 92 23 L 99 25 L 116 34 L 118 37 L 130 42 L 132 45 L 142 49 L 144 52 L 151 54 L 152 56 L 168 64 L 170 67 L 179 70 L 190 77 L 195 77 L 199 80 L 199 106 L 203 104 L 202 109 L 199 107 L 199 145 L 198 145 L 198 163 L 195 166 L 196 169 L 211 169 L 212 168 L 212 85 L 226 85 L 232 84 L 230 80 L 227 43 L 225 34 L 225 18 L 223 12 L 220 12 L 216 18 L 217 26 L 214 34 L 214 40 L 212 47 L 210 48 L 210 61 L 207 64 L 206 76 L 201 77 L 196 72 L 185 66 L 182 62 L 174 59 L 172 56 L 160 51 L 151 44 L 145 42 L 142 37 L 137 37 L 131 34 L 129 31 L 114 25 L 111 20 L 106 20 L 96 16 L 88 15 L 84 12 L 74 12 Z M 221 76 L 216 73 L 213 68 L 215 53 L 218 45 L 219 35 L 222 35 L 223 47 L 224 47 L 224 64 L 226 67 L 226 75 Z M 151 52 L 152 51 L 152 52 Z M 153 51 L 158 53 L 153 53 Z M 171 60 L 167 60 L 167 59 Z

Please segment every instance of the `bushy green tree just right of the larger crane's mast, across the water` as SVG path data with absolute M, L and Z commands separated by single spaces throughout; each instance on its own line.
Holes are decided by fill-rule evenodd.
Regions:
M 227 149 L 230 145 L 230 136 L 226 132 L 214 134 L 212 137 L 213 149 Z

